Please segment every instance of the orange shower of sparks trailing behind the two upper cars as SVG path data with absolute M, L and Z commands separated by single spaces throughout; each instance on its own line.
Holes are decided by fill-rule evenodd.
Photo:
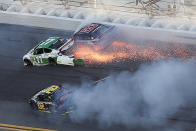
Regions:
M 76 58 L 83 58 L 88 64 L 107 64 L 123 60 L 153 61 L 169 58 L 191 58 L 196 54 L 187 47 L 177 45 L 137 45 L 124 42 L 113 42 L 106 49 L 100 45 L 88 46 L 79 44 L 74 51 Z

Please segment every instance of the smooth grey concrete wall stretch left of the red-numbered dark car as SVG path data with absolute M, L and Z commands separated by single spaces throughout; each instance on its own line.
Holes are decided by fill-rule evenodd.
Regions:
M 81 21 L 53 16 L 39 16 L 13 12 L 0 12 L 0 23 L 74 31 L 81 24 Z

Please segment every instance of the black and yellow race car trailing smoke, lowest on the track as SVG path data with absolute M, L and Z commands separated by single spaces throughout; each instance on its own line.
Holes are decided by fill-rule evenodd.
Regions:
M 74 110 L 70 102 L 72 91 L 59 85 L 52 85 L 36 93 L 29 100 L 29 104 L 34 110 L 66 115 Z

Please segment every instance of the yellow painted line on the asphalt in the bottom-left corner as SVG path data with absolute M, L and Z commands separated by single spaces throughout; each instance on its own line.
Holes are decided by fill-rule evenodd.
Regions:
M 43 129 L 43 128 L 34 128 L 34 127 L 27 127 L 27 126 L 17 126 L 17 125 L 10 125 L 10 124 L 3 124 L 0 123 L 0 128 L 13 128 L 15 131 L 27 131 L 27 130 L 33 130 L 33 131 L 56 131 L 56 130 L 50 130 L 50 129 Z M 21 130 L 23 129 L 23 130 Z

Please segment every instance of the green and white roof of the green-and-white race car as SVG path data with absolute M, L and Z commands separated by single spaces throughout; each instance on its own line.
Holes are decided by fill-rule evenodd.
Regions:
M 49 37 L 47 40 L 41 42 L 37 48 L 49 48 L 52 44 L 56 43 L 60 37 Z

